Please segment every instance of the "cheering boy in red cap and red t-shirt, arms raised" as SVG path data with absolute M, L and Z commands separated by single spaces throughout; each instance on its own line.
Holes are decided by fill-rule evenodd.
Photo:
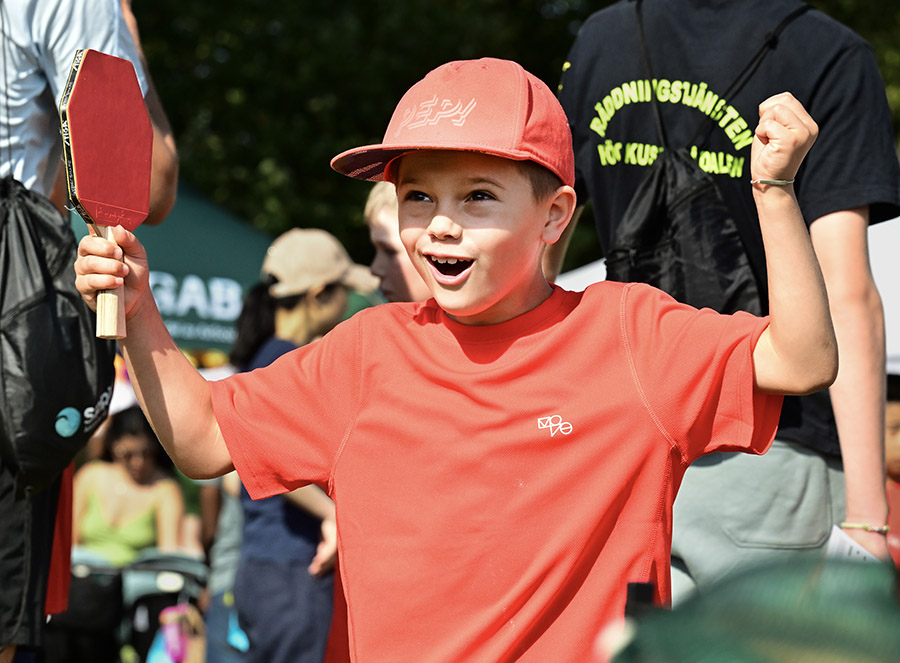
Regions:
M 591 660 L 629 582 L 668 600 L 672 501 L 714 450 L 762 453 L 783 393 L 834 378 L 821 275 L 790 185 L 816 126 L 760 107 L 751 170 L 771 316 L 723 316 L 639 284 L 549 285 L 575 207 L 553 93 L 515 63 L 453 62 L 401 99 L 381 145 L 332 165 L 397 186 L 431 290 L 366 309 L 270 367 L 207 383 L 172 342 L 134 236 L 89 237 L 88 304 L 124 282 L 123 348 L 188 474 L 255 497 L 313 482 L 337 505 L 354 660 Z M 768 182 L 768 183 L 767 183 Z M 748 185 L 750 186 L 750 185 Z

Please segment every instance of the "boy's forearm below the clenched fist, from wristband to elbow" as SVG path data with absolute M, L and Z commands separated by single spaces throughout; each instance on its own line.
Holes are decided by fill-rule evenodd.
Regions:
M 757 384 L 766 391 L 804 394 L 829 386 L 837 372 L 837 344 L 828 297 L 809 232 L 792 186 L 754 185 L 766 251 L 769 328 L 760 342 Z

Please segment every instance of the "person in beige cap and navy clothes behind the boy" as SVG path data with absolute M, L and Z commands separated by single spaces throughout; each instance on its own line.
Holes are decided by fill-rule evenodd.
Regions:
M 331 234 L 289 230 L 269 247 L 262 283 L 245 299 L 231 362 L 250 371 L 317 340 L 344 318 L 351 290 L 365 293 L 377 286 Z M 242 487 L 241 505 L 234 599 L 249 639 L 244 661 L 321 663 L 334 605 L 334 503 L 309 485 L 261 500 L 250 499 Z M 346 613 L 340 621 L 345 627 Z M 329 661 L 347 659 L 345 639 L 337 642 L 344 651 L 329 652 Z

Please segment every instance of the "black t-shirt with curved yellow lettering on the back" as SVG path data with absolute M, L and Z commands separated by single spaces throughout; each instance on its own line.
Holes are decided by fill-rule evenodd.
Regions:
M 651 94 L 670 146 L 691 144 L 715 176 L 750 257 L 767 310 L 765 255 L 750 186 L 750 144 L 759 104 L 790 91 L 820 134 L 797 175 L 807 223 L 863 205 L 871 223 L 900 215 L 900 166 L 884 84 L 869 45 L 846 26 L 810 10 L 794 19 L 733 97 L 735 77 L 766 35 L 802 3 L 644 0 L 654 80 L 641 62 L 633 0 L 593 14 L 581 28 L 560 81 L 575 147 L 579 204 L 592 201 L 604 247 L 610 245 L 644 169 L 660 149 Z M 827 392 L 785 399 L 779 438 L 839 454 Z

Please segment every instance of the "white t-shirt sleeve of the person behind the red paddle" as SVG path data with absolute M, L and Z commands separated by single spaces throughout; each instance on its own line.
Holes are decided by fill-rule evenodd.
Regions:
M 60 95 L 78 49 L 91 48 L 124 58 L 134 65 L 141 92 L 147 93 L 147 77 L 119 0 L 66 0 L 38 4 L 36 26 L 44 26 L 38 57 L 47 75 L 53 98 Z

